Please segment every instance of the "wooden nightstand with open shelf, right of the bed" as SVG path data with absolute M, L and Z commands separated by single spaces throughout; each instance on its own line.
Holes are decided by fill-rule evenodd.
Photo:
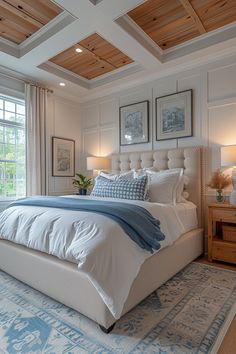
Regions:
M 236 205 L 210 204 L 208 206 L 208 261 L 218 260 L 236 264 L 234 231 L 232 237 L 229 237 L 231 235 L 227 231 L 227 239 L 232 240 L 225 240 L 224 226 L 227 226 L 227 229 L 230 226 L 232 230 L 236 228 Z

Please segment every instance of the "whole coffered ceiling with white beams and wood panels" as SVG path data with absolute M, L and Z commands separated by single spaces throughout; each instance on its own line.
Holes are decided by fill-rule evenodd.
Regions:
M 0 0 L 0 72 L 79 99 L 234 53 L 236 0 Z

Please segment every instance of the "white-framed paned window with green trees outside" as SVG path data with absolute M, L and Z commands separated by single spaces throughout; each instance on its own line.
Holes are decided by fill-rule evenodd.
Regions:
M 0 199 L 25 196 L 25 102 L 0 94 Z

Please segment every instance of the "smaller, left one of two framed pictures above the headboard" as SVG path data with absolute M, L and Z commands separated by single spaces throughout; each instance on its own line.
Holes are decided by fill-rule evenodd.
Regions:
M 149 101 L 120 107 L 120 146 L 149 142 Z

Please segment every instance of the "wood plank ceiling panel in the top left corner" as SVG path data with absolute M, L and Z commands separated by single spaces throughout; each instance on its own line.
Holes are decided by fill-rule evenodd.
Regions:
M 50 0 L 0 0 L 0 36 L 20 44 L 61 12 Z

